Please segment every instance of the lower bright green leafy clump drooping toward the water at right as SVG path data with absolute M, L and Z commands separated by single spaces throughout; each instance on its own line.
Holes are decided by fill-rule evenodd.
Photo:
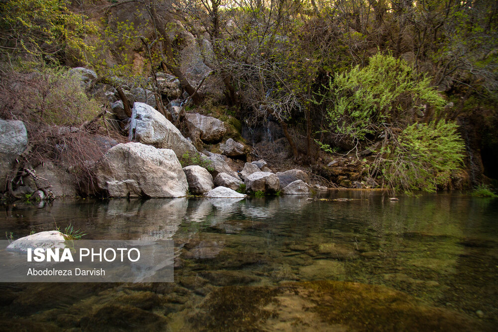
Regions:
M 433 192 L 445 186 L 463 162 L 464 142 L 454 122 L 415 123 L 382 149 L 376 170 L 388 188 Z

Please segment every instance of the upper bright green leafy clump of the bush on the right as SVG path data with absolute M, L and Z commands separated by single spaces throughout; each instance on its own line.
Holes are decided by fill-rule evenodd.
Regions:
M 353 141 L 377 133 L 386 122 L 409 121 L 424 104 L 437 110 L 445 104 L 429 78 L 419 79 L 406 62 L 380 52 L 365 68 L 337 73 L 326 88 L 317 104 L 327 107 L 329 131 Z

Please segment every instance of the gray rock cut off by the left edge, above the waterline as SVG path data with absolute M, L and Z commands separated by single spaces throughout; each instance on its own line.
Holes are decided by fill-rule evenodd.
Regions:
M 4 190 L 14 161 L 27 144 L 28 134 L 22 121 L 0 119 L 0 191 Z

